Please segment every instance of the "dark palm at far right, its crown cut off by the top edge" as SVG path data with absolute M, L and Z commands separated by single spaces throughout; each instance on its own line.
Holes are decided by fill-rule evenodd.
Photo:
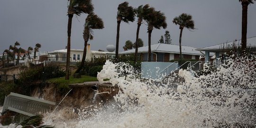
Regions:
M 241 48 L 246 50 L 247 47 L 247 10 L 248 5 L 253 4 L 256 0 L 239 0 L 242 4 L 242 41 Z

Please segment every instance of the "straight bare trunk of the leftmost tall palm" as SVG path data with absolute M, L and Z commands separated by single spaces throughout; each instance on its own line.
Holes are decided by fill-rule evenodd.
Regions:
M 67 43 L 67 62 L 66 62 L 66 77 L 65 80 L 69 80 L 69 64 L 70 64 L 70 37 L 72 27 L 73 14 L 68 14 L 68 43 Z

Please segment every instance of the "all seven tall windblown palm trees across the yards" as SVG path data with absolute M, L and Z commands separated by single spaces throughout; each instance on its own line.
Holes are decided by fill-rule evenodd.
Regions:
M 85 60 L 86 55 L 86 45 L 89 39 L 92 39 L 91 31 L 92 29 L 102 29 L 103 21 L 101 18 L 99 18 L 97 15 L 93 14 L 93 4 L 91 3 L 91 0 L 68 0 L 68 41 L 67 41 L 67 58 L 70 58 L 70 38 L 71 38 L 71 27 L 72 27 L 72 18 L 73 15 L 80 16 L 82 13 L 89 14 L 91 18 L 86 18 L 85 25 L 84 25 L 84 31 L 83 31 L 83 38 L 84 38 L 84 54 L 82 57 L 82 62 Z M 239 0 L 243 6 L 243 21 L 242 21 L 242 47 L 246 47 L 246 31 L 247 31 L 247 6 L 251 3 L 254 3 L 255 0 Z M 246 10 L 246 11 L 245 11 Z M 245 18 L 246 14 L 246 18 Z M 146 5 L 140 5 L 138 8 L 133 8 L 128 5 L 128 2 L 125 1 L 118 6 L 118 13 L 117 13 L 117 37 L 116 37 L 116 58 L 119 57 L 119 30 L 120 30 L 120 23 L 121 21 L 128 23 L 133 22 L 135 20 L 135 16 L 137 17 L 137 33 L 136 33 L 136 43 L 135 43 L 135 59 L 134 61 L 137 61 L 137 41 L 139 37 L 139 29 L 143 21 L 146 22 L 147 25 L 147 33 L 148 33 L 148 61 L 151 61 L 151 33 L 154 28 L 160 29 L 163 27 L 164 29 L 167 27 L 166 23 L 166 17 L 165 14 L 161 11 L 156 11 L 154 7 L 150 7 L 148 4 Z M 98 20 L 99 22 L 96 22 L 94 20 Z M 246 23 L 245 23 L 246 22 Z M 95 23 L 95 24 L 94 24 Z M 96 26 L 97 23 L 100 23 L 101 25 Z M 182 33 L 183 28 L 187 28 L 189 30 L 195 29 L 194 27 L 194 21 L 192 19 L 192 16 L 186 13 L 181 14 L 178 17 L 175 17 L 173 19 L 173 23 L 175 25 L 179 25 L 180 28 L 180 58 L 182 59 L 182 48 L 181 48 L 181 42 L 182 42 Z M 95 26 L 91 26 L 91 24 L 94 24 Z M 65 79 L 69 79 L 69 64 L 70 59 L 67 59 L 66 61 L 66 76 Z M 82 69 L 82 64 L 79 66 L 78 70 L 75 73 L 79 73 L 79 71 Z

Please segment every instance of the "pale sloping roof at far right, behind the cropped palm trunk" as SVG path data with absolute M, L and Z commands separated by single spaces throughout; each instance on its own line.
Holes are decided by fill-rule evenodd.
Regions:
M 213 46 L 198 48 L 198 51 L 223 51 L 232 48 L 232 46 L 241 46 L 241 40 L 235 40 L 227 43 L 221 43 Z M 247 47 L 256 48 L 256 37 L 247 38 Z

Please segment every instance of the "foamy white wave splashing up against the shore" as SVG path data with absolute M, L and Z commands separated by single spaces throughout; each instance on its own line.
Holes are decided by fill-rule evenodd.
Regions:
M 131 66 L 107 61 L 97 78 L 119 86 L 115 102 L 85 108 L 76 119 L 57 114 L 47 123 L 57 128 L 255 127 L 255 60 L 229 59 L 201 76 L 180 70 L 185 82 L 176 89 L 170 82 L 142 81 Z

